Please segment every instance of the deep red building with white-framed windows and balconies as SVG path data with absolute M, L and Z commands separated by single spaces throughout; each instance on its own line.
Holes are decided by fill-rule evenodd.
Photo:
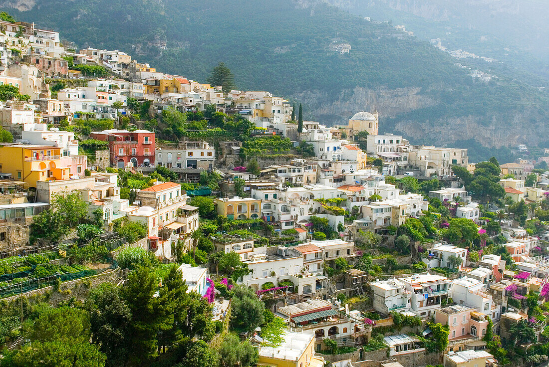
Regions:
M 92 139 L 109 142 L 110 163 L 116 167 L 149 167 L 154 163 L 154 133 L 148 130 L 104 130 L 92 132 Z

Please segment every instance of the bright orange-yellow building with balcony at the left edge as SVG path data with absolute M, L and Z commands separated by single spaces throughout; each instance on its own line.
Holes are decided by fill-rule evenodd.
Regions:
M 70 177 L 70 159 L 61 157 L 61 149 L 48 145 L 0 145 L 0 172 L 36 187 L 37 181 L 63 180 Z

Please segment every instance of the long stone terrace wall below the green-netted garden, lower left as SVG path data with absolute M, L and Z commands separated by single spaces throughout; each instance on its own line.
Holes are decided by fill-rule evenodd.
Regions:
M 12 302 L 17 300 L 19 297 L 23 296 L 25 298 L 38 298 L 40 296 L 46 295 L 49 293 L 48 303 L 51 306 L 57 306 L 60 302 L 68 300 L 71 297 L 76 297 L 77 299 L 83 301 L 89 289 L 97 287 L 103 283 L 116 283 L 122 279 L 125 279 L 127 276 L 127 270 L 122 270 L 116 268 L 114 270 L 107 270 L 101 274 L 88 276 L 86 278 L 66 281 L 61 283 L 58 291 L 54 291 L 53 286 L 44 287 L 41 289 L 33 290 L 30 292 L 23 293 L 23 295 L 15 295 L 8 298 L 4 298 L 4 302 Z

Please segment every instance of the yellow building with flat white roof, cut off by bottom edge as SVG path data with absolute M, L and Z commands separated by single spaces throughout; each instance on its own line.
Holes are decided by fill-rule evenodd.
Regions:
M 315 355 L 315 335 L 287 332 L 278 347 L 260 347 L 257 366 L 323 367 L 324 358 Z

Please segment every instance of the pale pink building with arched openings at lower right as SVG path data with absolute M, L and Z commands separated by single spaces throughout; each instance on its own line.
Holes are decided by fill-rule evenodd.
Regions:
M 435 310 L 435 323 L 448 325 L 448 340 L 483 337 L 488 327 L 487 316 L 477 309 L 455 304 Z

